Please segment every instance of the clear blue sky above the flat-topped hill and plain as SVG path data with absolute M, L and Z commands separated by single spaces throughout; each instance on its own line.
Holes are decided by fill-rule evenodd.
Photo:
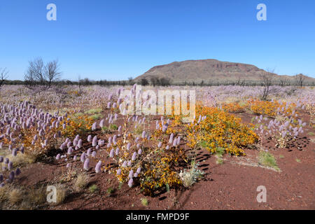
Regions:
M 46 20 L 48 3 L 57 21 Z M 0 0 L 0 67 L 22 79 L 35 57 L 59 59 L 70 80 L 127 79 L 186 59 L 315 77 L 315 1 Z

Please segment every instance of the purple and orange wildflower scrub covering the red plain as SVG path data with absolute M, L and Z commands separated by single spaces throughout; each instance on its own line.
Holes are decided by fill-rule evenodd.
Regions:
M 146 86 L 143 91 L 176 88 Z M 111 197 L 123 186 L 151 197 L 170 190 L 190 190 L 205 179 L 197 162 L 202 150 L 216 156 L 217 165 L 222 166 L 225 155 L 246 157 L 247 152 L 260 151 L 260 165 L 279 170 L 274 157 L 265 151 L 266 144 L 275 151 L 300 147 L 297 139 L 304 129 L 314 132 L 314 87 L 269 86 L 263 100 L 264 87 L 186 86 L 183 89 L 196 90 L 197 95 L 192 123 L 182 123 L 182 116 L 174 113 L 122 115 L 120 107 L 126 99 L 119 96 L 124 89 L 136 94 L 135 85 L 51 85 L 45 90 L 40 85 L 3 85 L 2 208 L 52 206 L 45 202 L 48 185 L 57 186 L 55 205 L 64 203 L 70 193 L 96 194 L 99 183 L 90 183 L 92 174 L 99 178 L 109 174 L 109 183 L 118 182 L 106 193 Z M 251 119 L 244 121 L 241 114 Z M 32 186 L 37 194 L 31 195 L 20 176 L 27 175 L 28 167 L 35 163 L 59 167 L 62 174 Z M 36 172 L 41 174 L 41 170 Z M 144 196 L 141 204 L 147 207 L 151 202 Z

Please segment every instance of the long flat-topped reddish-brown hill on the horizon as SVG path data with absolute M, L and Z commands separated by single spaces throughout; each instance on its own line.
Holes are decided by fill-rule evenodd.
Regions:
M 226 83 L 237 80 L 260 82 L 260 74 L 266 72 L 252 64 L 221 62 L 216 59 L 187 60 L 154 66 L 135 80 L 146 78 L 170 78 L 172 83 Z M 294 80 L 294 76 L 279 76 L 272 73 L 274 80 Z M 304 76 L 305 83 L 315 83 L 315 78 Z

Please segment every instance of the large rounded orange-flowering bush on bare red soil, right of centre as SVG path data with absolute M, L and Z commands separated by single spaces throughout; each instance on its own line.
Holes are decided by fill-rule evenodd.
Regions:
M 225 111 L 214 107 L 197 106 L 197 116 L 204 118 L 199 123 L 187 125 L 188 146 L 200 147 L 203 142 L 208 151 L 215 153 L 223 148 L 232 155 L 244 155 L 242 148 L 255 144 L 258 135 Z

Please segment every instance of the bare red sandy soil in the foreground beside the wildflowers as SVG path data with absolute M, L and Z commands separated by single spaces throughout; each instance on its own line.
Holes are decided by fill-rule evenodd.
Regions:
M 237 116 L 245 123 L 253 118 L 248 113 Z M 304 115 L 303 121 L 307 119 L 309 116 Z M 217 165 L 215 156 L 202 149 L 197 161 L 205 172 L 204 179 L 190 189 L 171 189 L 169 193 L 148 197 L 142 195 L 139 186 L 128 188 L 124 184 L 119 188 L 113 174 L 96 174 L 91 169 L 88 172 L 91 180 L 85 190 L 70 193 L 61 205 L 48 204 L 42 209 L 315 209 L 315 137 L 310 132 L 314 133 L 314 128 L 304 128 L 304 134 L 297 140 L 298 147 L 274 148 L 274 143 L 263 142 L 262 147 L 274 155 L 281 172 L 259 165 L 259 151 L 255 149 L 246 149 L 246 156 L 242 157 L 224 155 L 222 165 Z M 66 162 L 27 165 L 18 184 L 49 185 L 66 171 L 65 165 Z M 66 184 L 70 186 L 71 182 Z M 99 188 L 96 193 L 88 190 L 93 184 Z M 266 187 L 267 202 L 257 202 L 258 186 Z M 113 193 L 106 193 L 109 188 Z M 147 206 L 141 204 L 141 198 L 148 200 Z

